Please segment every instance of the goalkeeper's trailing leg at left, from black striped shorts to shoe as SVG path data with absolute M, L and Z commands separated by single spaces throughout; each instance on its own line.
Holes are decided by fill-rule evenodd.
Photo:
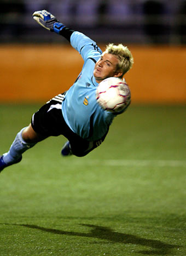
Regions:
M 33 114 L 31 124 L 16 135 L 10 150 L 0 157 L 0 172 L 5 167 L 20 162 L 22 153 L 39 141 L 62 134 L 63 122 L 60 121 L 63 119 L 61 103 L 64 95 L 57 95 Z

